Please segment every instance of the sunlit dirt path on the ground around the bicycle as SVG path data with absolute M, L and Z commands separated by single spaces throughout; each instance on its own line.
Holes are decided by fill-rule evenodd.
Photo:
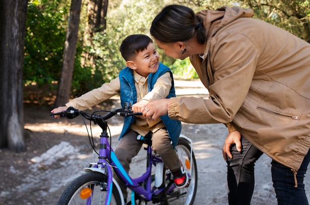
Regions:
M 176 82 L 176 86 L 184 82 Z M 177 87 L 178 95 L 206 95 L 198 82 L 189 83 L 191 89 Z M 117 100 L 103 103 L 113 109 Z M 49 106 L 26 106 L 25 128 L 27 152 L 12 153 L 0 150 L 0 205 L 55 205 L 64 187 L 83 173 L 93 161 L 93 154 L 85 126 L 80 119 L 61 121 L 48 116 Z M 122 119 L 110 122 L 112 147 L 117 146 Z M 222 144 L 227 130 L 222 124 L 182 124 L 182 134 L 192 138 L 198 164 L 198 191 L 195 205 L 227 205 L 226 163 L 222 158 Z M 94 127 L 93 127 L 94 128 Z M 100 130 L 93 129 L 94 135 Z M 139 175 L 144 167 L 145 151 L 134 158 L 131 173 Z M 263 155 L 256 164 L 256 186 L 252 205 L 275 205 L 271 182 L 271 160 Z M 310 199 L 310 177 L 305 178 Z

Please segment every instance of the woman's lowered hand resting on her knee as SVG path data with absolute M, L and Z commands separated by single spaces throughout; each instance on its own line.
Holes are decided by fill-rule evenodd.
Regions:
M 233 156 L 230 152 L 230 148 L 236 145 L 238 152 L 241 152 L 242 145 L 241 145 L 241 134 L 239 131 L 230 132 L 225 139 L 224 146 L 223 146 L 223 158 L 227 160 L 227 156 L 232 159 Z

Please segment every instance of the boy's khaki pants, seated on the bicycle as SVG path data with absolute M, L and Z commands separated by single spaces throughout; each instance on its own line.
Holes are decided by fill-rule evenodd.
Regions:
M 137 136 L 138 133 L 130 129 L 128 133 L 121 138 L 115 150 L 115 154 L 119 162 L 122 164 L 127 173 L 129 173 L 132 158 L 139 153 L 143 144 L 141 140 L 137 140 Z M 167 133 L 167 130 L 158 129 L 152 136 L 152 150 L 162 158 L 163 163 L 168 169 L 171 171 L 177 171 L 181 168 L 181 163 L 175 149 L 173 148 L 173 145 L 170 142 L 171 139 Z M 116 176 L 116 174 L 114 174 L 113 177 L 120 185 L 124 199 L 126 199 L 126 187 Z

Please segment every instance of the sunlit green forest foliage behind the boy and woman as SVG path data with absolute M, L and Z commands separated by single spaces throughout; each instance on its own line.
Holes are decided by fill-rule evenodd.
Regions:
M 14 10 L 17 6 L 8 6 L 13 3 L 17 5 L 17 2 L 23 2 L 20 9 Z M 19 93 L 31 86 L 45 90 L 47 92 L 43 93 L 45 96 L 51 96 L 51 92 L 56 91 L 56 100 L 52 101 L 56 107 L 68 100 L 59 94 L 64 90 L 60 87 L 61 79 L 70 85 L 64 86 L 70 88 L 67 91 L 68 97 L 74 98 L 117 77 L 118 72 L 125 67 L 125 61 L 119 52 L 121 41 L 131 34 L 149 35 L 149 29 L 156 14 L 165 5 L 173 3 L 189 6 L 195 12 L 202 9 L 216 9 L 223 5 L 250 7 L 255 11 L 254 18 L 283 28 L 310 42 L 309 0 L 1 0 L 0 13 L 3 18 L 0 19 L 2 23 L 0 48 L 4 48 L 1 49 L 0 54 L 2 115 L 10 116 L 16 111 L 14 106 L 19 106 L 17 117 L 14 119 L 18 119 L 19 125 L 23 126 L 21 120 L 23 111 L 20 108 L 22 104 L 20 102 L 23 101 L 20 100 Z M 15 20 L 18 19 L 20 13 L 25 14 L 19 18 L 21 20 L 25 18 L 25 25 L 20 27 L 24 28 L 23 31 L 17 31 L 24 38 L 19 42 L 19 45 L 23 45 L 21 50 L 23 57 L 15 59 L 22 61 L 22 65 L 20 69 L 16 68 L 16 71 L 12 67 L 14 66 L 12 56 L 9 56 L 9 60 L 6 61 L 1 57 L 5 55 L 7 45 L 3 41 L 4 37 L 6 35 L 7 38 L 9 35 L 5 33 L 5 28 L 9 26 L 14 28 L 13 24 L 16 23 L 12 21 L 12 25 L 6 23 L 8 27 L 3 26 L 5 22 L 2 21 L 10 18 L 8 17 L 10 11 L 5 8 L 12 9 L 12 18 Z M 71 32 L 74 28 L 77 35 L 76 42 L 72 43 L 74 34 Z M 66 51 L 70 46 L 71 55 L 73 53 L 72 60 L 66 59 L 68 58 Z M 158 49 L 158 52 L 161 62 L 173 71 L 174 78 L 198 78 L 189 59 L 176 60 L 166 56 L 162 50 Z M 66 69 L 67 61 L 72 64 L 72 69 L 69 71 Z M 22 73 L 21 86 L 18 87 L 18 91 L 7 90 L 10 85 L 16 83 L 14 79 L 8 85 L 4 83 L 9 81 L 10 78 L 6 77 L 10 76 L 12 71 L 15 73 L 11 76 L 15 78 Z M 16 81 L 19 82 L 18 78 Z M 11 95 L 13 103 L 8 99 Z M 15 98 L 17 98 L 17 103 L 14 102 Z M 57 99 L 60 99 L 58 103 Z M 10 109 L 11 107 L 13 109 Z M 14 129 L 17 130 L 17 126 L 8 126 L 10 121 L 4 117 L 0 126 L 0 148 L 7 147 L 10 138 L 16 138 L 8 133 L 13 133 Z M 17 135 L 20 133 L 23 132 Z M 23 141 L 23 137 L 17 138 L 17 141 Z M 11 141 L 16 143 L 16 140 Z M 25 150 L 23 146 L 23 143 L 17 143 L 11 148 L 23 151 Z

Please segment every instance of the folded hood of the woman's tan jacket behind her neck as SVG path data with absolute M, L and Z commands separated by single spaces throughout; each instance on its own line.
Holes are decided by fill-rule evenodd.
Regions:
M 232 21 L 242 17 L 253 17 L 254 11 L 251 8 L 222 6 L 216 10 L 199 11 L 197 15 L 203 19 L 207 39 L 209 39 Z

